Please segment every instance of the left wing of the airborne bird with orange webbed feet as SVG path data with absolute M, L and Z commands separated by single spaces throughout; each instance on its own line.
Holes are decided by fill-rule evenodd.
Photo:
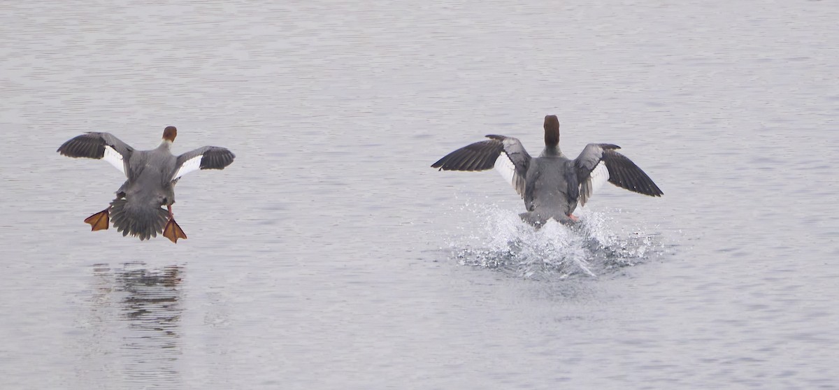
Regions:
M 63 143 L 56 152 L 74 158 L 102 159 L 125 174 L 125 163 L 134 148 L 111 133 L 84 133 Z

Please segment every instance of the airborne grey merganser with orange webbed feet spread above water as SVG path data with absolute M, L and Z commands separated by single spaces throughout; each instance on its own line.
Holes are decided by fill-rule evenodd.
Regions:
M 162 231 L 175 243 L 186 238 L 172 215 L 175 184 L 198 169 L 224 169 L 236 156 L 227 148 L 205 146 L 176 157 L 169 148 L 177 135 L 174 126 L 166 127 L 163 141 L 151 150 L 135 150 L 111 133 L 81 134 L 58 148 L 58 153 L 69 157 L 103 159 L 128 178 L 107 209 L 85 219 L 91 231 L 107 229 L 110 215 L 123 237 L 130 234 L 147 240 Z

